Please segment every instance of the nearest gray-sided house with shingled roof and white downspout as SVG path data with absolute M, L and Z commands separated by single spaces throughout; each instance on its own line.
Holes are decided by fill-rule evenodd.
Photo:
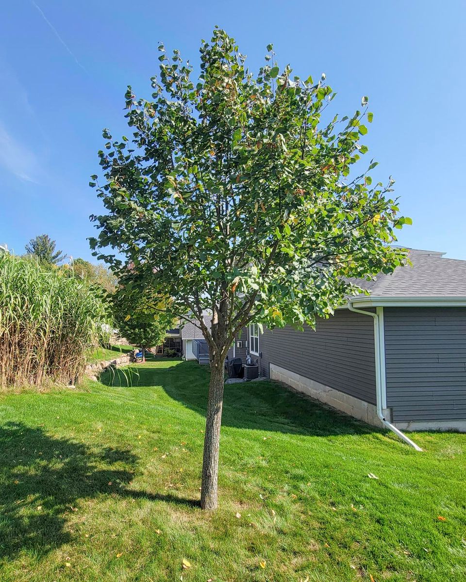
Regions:
M 251 325 L 248 352 L 266 377 L 370 424 L 466 431 L 466 261 L 443 254 L 410 249 L 412 267 L 362 282 L 370 295 L 315 331 Z

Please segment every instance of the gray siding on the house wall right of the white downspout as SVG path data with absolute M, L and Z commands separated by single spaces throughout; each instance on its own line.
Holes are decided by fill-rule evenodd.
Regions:
M 466 420 L 466 308 L 384 308 L 394 421 Z

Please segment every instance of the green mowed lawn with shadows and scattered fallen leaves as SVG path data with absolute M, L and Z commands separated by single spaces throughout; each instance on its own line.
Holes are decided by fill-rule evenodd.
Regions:
M 273 382 L 228 385 L 204 513 L 209 370 L 137 368 L 131 388 L 0 396 L 2 582 L 466 580 L 466 435 L 415 434 L 416 453 Z

